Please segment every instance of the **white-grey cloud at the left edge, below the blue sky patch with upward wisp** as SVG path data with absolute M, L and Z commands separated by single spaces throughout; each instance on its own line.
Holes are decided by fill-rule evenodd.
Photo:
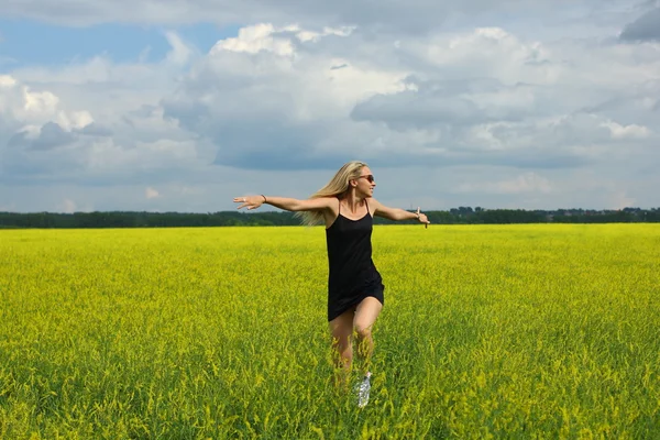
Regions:
M 154 65 L 92 57 L 0 76 L 0 179 L 108 185 L 150 180 L 164 170 L 172 177 L 210 162 L 204 143 L 184 135 L 157 106 L 197 56 L 174 33 L 166 38 L 173 48 Z

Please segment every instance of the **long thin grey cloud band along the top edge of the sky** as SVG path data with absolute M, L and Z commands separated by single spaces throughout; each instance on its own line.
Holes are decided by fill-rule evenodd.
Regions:
M 97 0 L 55 6 L 46 0 L 9 0 L 3 4 L 3 13 L 7 16 L 75 26 L 99 23 L 185 25 L 196 22 L 219 25 L 267 22 L 284 25 L 293 22 L 307 26 L 358 25 L 380 33 L 419 34 L 464 20 L 465 16 L 502 20 L 502 16 L 529 10 L 539 16 L 553 16 L 561 14 L 568 4 L 573 7 L 573 12 L 579 7 L 590 10 L 590 7 L 593 9 L 598 6 L 603 9 L 608 3 L 616 2 L 583 0 L 574 7 L 574 2 L 549 0 L 385 0 L 376 7 L 360 0 L 309 0 L 304 3 L 275 0 L 199 0 L 187 3 L 176 0 Z

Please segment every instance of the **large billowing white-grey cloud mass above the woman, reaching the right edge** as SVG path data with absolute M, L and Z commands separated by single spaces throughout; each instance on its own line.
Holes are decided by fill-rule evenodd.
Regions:
M 255 25 L 218 42 L 163 100 L 166 118 L 216 145 L 216 164 L 260 169 L 318 167 L 351 152 L 381 166 L 575 167 L 617 140 L 651 136 L 596 109 L 613 92 L 638 99 L 622 95 L 644 84 L 629 67 L 639 54 L 623 46 L 558 47 L 495 28 L 395 45 L 360 30 L 305 32 Z M 594 80 L 605 65 L 613 76 Z

